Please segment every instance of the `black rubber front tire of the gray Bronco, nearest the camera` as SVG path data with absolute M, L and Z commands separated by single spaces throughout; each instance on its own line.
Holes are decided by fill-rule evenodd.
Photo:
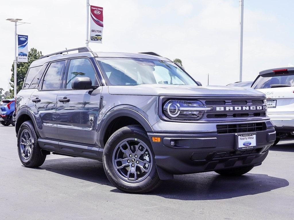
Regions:
M 118 169 L 116 169 L 114 167 L 114 160 L 113 160 L 113 155 L 115 155 L 115 150 L 118 149 L 118 145 L 119 143 L 123 142 L 126 139 L 133 139 L 134 141 L 140 140 L 141 143 L 143 143 L 145 146 L 148 147 L 149 150 L 151 150 L 151 154 L 150 155 L 150 165 L 151 168 L 148 172 L 146 172 L 146 174 L 143 176 L 143 180 L 137 180 L 140 182 L 127 182 L 128 180 L 123 180 L 119 175 L 118 175 Z M 139 145 L 138 145 L 139 146 Z M 147 149 L 147 148 L 146 148 Z M 148 150 L 148 151 L 149 151 Z M 143 150 L 145 151 L 145 150 Z M 143 152 L 142 151 L 142 152 Z M 137 152 L 137 151 L 136 151 Z M 132 152 L 133 154 L 135 154 L 134 152 Z M 145 151 L 146 153 L 146 151 Z M 142 156 L 143 154 L 141 154 Z M 144 154 L 145 155 L 145 154 Z M 139 156 L 139 158 L 141 157 Z M 151 156 L 152 156 L 152 160 L 151 160 Z M 139 158 L 137 158 L 137 160 L 139 160 Z M 136 161 L 137 162 L 137 161 Z M 128 165 L 126 165 L 123 169 L 131 169 L 131 165 L 133 166 L 132 162 L 128 162 L 130 165 L 128 167 Z M 135 162 L 134 166 L 136 165 Z M 147 136 L 146 131 L 137 125 L 131 125 L 131 126 L 126 126 L 123 128 L 120 128 L 119 130 L 117 130 L 116 132 L 114 132 L 111 137 L 108 139 L 104 151 L 103 151 L 103 167 L 104 167 L 104 171 L 106 173 L 106 176 L 108 178 L 108 180 L 118 189 L 124 191 L 124 192 L 130 192 L 130 193 L 146 193 L 146 192 L 150 192 L 153 189 L 155 189 L 156 187 L 159 186 L 160 184 L 160 179 L 158 176 L 158 172 L 156 169 L 156 164 L 155 164 L 155 160 L 154 160 L 154 152 L 150 143 L 150 140 Z M 137 165 L 136 165 L 137 167 Z M 135 172 L 137 168 L 135 169 Z M 140 168 L 139 168 L 140 169 Z M 137 174 L 136 174 L 137 175 Z M 136 177 L 134 178 L 134 180 L 136 180 Z

